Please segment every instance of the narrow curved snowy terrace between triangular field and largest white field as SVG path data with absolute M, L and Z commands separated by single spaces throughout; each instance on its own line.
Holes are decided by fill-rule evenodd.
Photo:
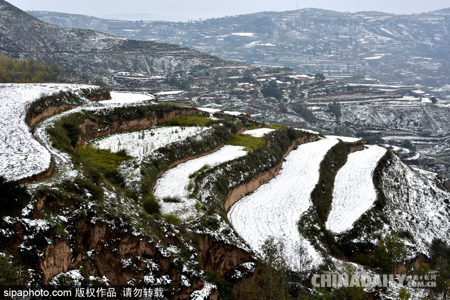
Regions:
M 247 152 L 243 148 L 242 146 L 224 145 L 214 153 L 180 163 L 162 174 L 156 181 L 153 194 L 159 199 L 176 197 L 180 202 L 160 201 L 161 213 L 175 214 L 181 219 L 194 216 L 196 200 L 188 198 L 189 175 L 205 164 L 214 166 L 246 155 Z

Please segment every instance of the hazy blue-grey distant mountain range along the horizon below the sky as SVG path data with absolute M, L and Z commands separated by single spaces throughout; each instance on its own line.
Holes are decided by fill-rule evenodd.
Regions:
M 304 8 L 185 23 L 30 13 L 63 27 L 176 43 L 224 59 L 325 75 L 369 75 L 383 82 L 413 81 L 435 89 L 437 96 L 450 94 L 445 87 L 450 77 L 449 8 L 404 15 Z

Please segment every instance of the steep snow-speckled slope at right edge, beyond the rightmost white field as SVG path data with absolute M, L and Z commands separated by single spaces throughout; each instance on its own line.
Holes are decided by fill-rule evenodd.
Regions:
M 413 248 L 427 253 L 434 237 L 450 242 L 450 193 L 392 155 L 383 169 L 381 188 L 386 197 L 383 213 L 397 232 L 409 232 Z M 410 244 L 410 243 L 409 243 Z

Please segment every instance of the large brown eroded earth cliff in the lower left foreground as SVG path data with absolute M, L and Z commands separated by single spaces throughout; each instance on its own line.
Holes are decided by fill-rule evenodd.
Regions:
M 188 300 L 193 291 L 204 286 L 204 281 L 196 276 L 188 278 L 188 286 L 185 282 L 181 284 L 181 269 L 174 264 L 173 257 L 162 254 L 148 237 L 134 236 L 119 228 L 112 230 L 106 222 L 92 224 L 80 221 L 77 228 L 80 244 L 75 250 L 66 240 L 49 236 L 52 244 L 46 246 L 44 257 L 38 265 L 43 284 L 59 273 L 79 269 L 82 265 L 81 271 L 85 275 L 105 276 L 109 284 L 116 285 L 128 284 L 131 279 L 136 284 L 142 284 L 144 275 L 148 273 L 155 277 L 168 275 L 170 286 L 175 291 L 173 298 L 179 300 Z M 125 264 L 124 258 L 132 266 Z M 156 263 L 158 268 L 149 269 L 147 260 Z M 209 297 L 220 299 L 217 290 L 211 290 Z

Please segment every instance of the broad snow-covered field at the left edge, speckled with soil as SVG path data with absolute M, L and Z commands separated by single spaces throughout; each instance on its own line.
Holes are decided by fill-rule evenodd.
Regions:
M 34 139 L 25 123 L 35 99 L 59 91 L 92 88 L 91 85 L 55 83 L 0 84 L 0 175 L 17 180 L 46 170 L 50 153 Z

